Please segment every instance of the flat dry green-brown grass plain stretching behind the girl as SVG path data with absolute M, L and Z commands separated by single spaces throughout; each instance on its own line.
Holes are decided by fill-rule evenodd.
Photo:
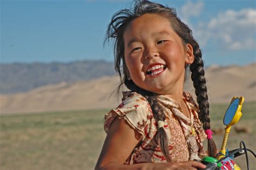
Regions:
M 224 128 L 223 115 L 228 104 L 211 107 L 212 128 Z M 231 129 L 228 148 L 239 147 L 244 140 L 248 148 L 256 152 L 255 120 L 256 102 L 245 103 L 242 118 L 235 126 L 245 127 L 248 133 Z M 0 116 L 0 169 L 93 169 L 105 132 L 103 117 L 109 111 L 86 110 L 11 114 Z M 220 148 L 223 132 L 214 134 Z M 255 159 L 250 155 L 251 169 L 256 169 Z M 245 155 L 236 159 L 246 169 Z

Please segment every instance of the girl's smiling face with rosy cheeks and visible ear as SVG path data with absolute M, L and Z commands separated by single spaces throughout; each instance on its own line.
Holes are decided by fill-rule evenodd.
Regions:
M 130 77 L 140 88 L 157 94 L 182 89 L 185 64 L 193 63 L 193 49 L 157 14 L 134 19 L 124 31 L 124 58 Z

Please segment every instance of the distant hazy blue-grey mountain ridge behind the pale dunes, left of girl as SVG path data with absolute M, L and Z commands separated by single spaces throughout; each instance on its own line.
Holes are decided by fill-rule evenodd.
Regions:
M 0 64 L 0 94 L 14 94 L 39 86 L 63 81 L 73 83 L 103 76 L 113 76 L 112 62 L 78 60 L 68 63 L 11 63 Z

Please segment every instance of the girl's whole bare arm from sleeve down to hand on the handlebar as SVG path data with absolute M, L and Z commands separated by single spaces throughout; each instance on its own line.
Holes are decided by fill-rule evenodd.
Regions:
M 102 152 L 99 155 L 95 169 L 195 169 L 205 168 L 196 161 L 143 163 L 124 165 L 141 137 L 124 119 L 115 119 L 107 133 Z

